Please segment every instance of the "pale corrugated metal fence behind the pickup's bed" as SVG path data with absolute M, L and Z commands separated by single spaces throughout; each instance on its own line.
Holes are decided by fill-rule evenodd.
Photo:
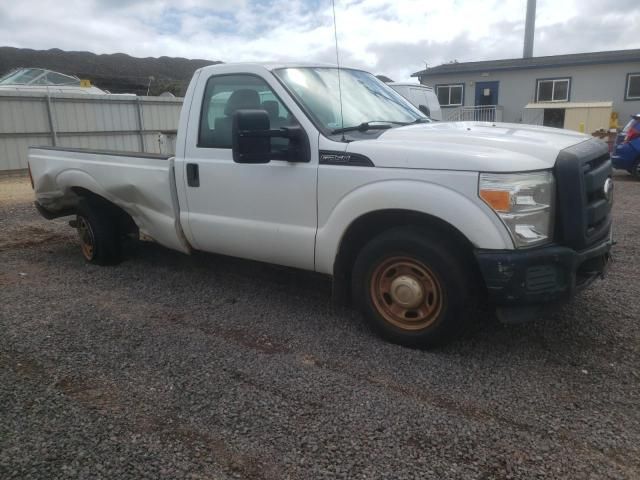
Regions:
M 182 98 L 0 93 L 0 171 L 27 168 L 29 146 L 167 153 Z M 166 138 L 166 137 L 164 137 Z

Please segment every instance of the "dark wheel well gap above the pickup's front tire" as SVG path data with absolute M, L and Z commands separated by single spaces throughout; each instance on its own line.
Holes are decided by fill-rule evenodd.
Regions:
M 340 241 L 333 265 L 333 297 L 339 304 L 351 299 L 351 272 L 360 250 L 374 237 L 396 227 L 419 227 L 433 232 L 438 238 L 446 238 L 453 248 L 464 256 L 473 275 L 481 279 L 478 264 L 473 255 L 473 245 L 455 227 L 444 220 L 411 210 L 379 210 L 356 219 Z

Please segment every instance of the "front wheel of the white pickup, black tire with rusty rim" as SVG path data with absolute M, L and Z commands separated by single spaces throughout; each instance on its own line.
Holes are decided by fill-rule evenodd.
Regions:
M 367 243 L 356 259 L 354 303 L 393 343 L 442 345 L 464 330 L 475 277 L 465 266 L 467 256 L 434 236 L 419 228 L 394 228 Z

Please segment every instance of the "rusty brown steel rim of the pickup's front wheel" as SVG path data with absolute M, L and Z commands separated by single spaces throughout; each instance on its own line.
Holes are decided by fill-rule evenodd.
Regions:
M 371 276 L 370 292 L 380 315 L 403 330 L 422 330 L 432 325 L 444 301 L 433 272 L 410 257 L 381 262 Z

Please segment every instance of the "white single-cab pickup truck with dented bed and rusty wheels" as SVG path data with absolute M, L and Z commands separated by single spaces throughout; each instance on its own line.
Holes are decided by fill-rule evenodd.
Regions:
M 36 206 L 76 215 L 85 259 L 124 237 L 331 275 L 385 338 L 442 343 L 478 299 L 505 321 L 601 276 L 611 164 L 599 140 L 432 123 L 373 75 L 321 65 L 198 70 L 175 157 L 31 148 Z

